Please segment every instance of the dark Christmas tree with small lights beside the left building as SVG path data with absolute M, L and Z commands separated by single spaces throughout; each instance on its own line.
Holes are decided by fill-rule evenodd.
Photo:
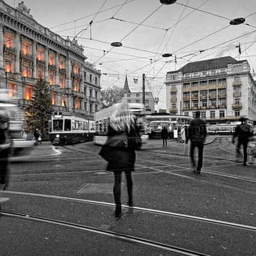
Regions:
M 43 80 L 38 80 L 33 88 L 33 100 L 30 106 L 25 108 L 28 132 L 33 132 L 37 128 L 42 138 L 47 138 L 49 133 L 49 120 L 52 115 L 52 95 L 48 84 Z

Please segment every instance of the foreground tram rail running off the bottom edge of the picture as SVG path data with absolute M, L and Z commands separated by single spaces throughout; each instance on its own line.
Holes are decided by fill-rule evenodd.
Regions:
M 97 234 L 100 236 L 106 236 L 110 237 L 111 239 L 117 239 L 120 241 L 124 241 L 125 243 L 130 244 L 136 244 L 141 246 L 147 246 L 148 248 L 154 248 L 159 251 L 168 252 L 168 253 L 175 253 L 176 255 L 186 255 L 186 256 L 211 256 L 209 254 L 201 253 L 201 252 L 195 252 L 193 250 L 188 250 L 186 248 L 180 248 L 178 246 L 172 246 L 170 244 L 164 244 L 157 241 L 152 241 L 148 239 L 144 239 L 141 237 L 136 236 L 130 236 L 127 234 L 122 234 L 118 232 L 113 232 L 111 230 L 104 230 L 101 228 L 95 228 L 95 227 L 89 227 L 85 225 L 79 225 L 76 223 L 70 223 L 68 221 L 60 221 L 60 220 L 54 220 L 51 218 L 43 218 L 28 214 L 21 214 L 17 212 L 8 212 L 8 211 L 2 211 L 1 215 L 10 217 L 10 218 L 20 218 L 23 220 L 29 220 L 29 221 L 37 221 L 42 223 L 49 223 L 52 225 L 59 225 L 61 227 L 65 228 L 72 228 L 76 230 L 81 230 L 84 232 L 89 232 L 93 234 Z

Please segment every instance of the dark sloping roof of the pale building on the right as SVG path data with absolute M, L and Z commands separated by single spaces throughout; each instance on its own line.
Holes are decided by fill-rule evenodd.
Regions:
M 210 60 L 191 62 L 191 63 L 186 64 L 184 67 L 180 68 L 179 70 L 170 71 L 170 72 L 167 72 L 167 74 L 177 73 L 177 72 L 182 72 L 182 73 L 186 74 L 186 73 L 200 72 L 200 71 L 204 71 L 204 70 L 227 68 L 228 64 L 238 64 L 238 63 L 242 63 L 242 62 L 244 62 L 244 60 L 237 61 L 236 59 L 234 59 L 230 56 L 225 56 L 225 57 L 215 58 L 215 59 L 210 59 Z

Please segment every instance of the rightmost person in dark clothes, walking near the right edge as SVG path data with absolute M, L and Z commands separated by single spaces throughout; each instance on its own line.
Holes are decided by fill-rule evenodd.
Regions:
M 237 137 L 237 147 L 236 152 L 237 156 L 239 156 L 240 153 L 240 147 L 243 145 L 243 154 L 244 154 L 244 161 L 243 165 L 246 166 L 247 161 L 247 147 L 248 147 L 248 140 L 252 136 L 252 132 L 250 131 L 250 125 L 245 124 L 245 118 L 240 118 L 241 124 L 236 126 L 235 133 L 232 138 L 232 143 L 235 143 L 235 138 Z

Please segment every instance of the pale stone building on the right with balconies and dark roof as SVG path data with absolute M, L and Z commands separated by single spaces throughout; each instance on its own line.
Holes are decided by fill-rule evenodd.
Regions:
M 229 56 L 191 62 L 166 74 L 170 113 L 194 116 L 208 124 L 232 123 L 241 116 L 256 121 L 256 83 L 246 60 Z

